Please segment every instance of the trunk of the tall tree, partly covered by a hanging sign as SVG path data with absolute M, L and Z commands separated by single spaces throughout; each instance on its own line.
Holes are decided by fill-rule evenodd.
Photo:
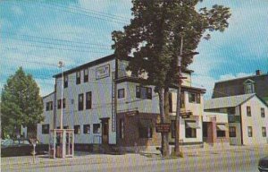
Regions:
M 165 116 L 165 90 L 163 88 L 159 89 L 159 109 L 160 109 L 160 116 L 161 116 L 161 123 L 167 123 L 167 117 Z M 169 138 L 168 133 L 161 133 L 162 136 L 162 156 L 169 157 Z

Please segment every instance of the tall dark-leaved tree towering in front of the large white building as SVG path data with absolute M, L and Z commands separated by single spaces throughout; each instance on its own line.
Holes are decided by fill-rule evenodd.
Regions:
M 215 4 L 210 10 L 197 11 L 198 2 L 132 0 L 133 19 L 123 31 L 112 34 L 115 55 L 120 58 L 133 53 L 129 69 L 133 73 L 147 72 L 148 82 L 155 85 L 162 123 L 169 122 L 169 88 L 180 82 L 178 56 L 182 56 L 181 67 L 186 69 L 205 31 L 228 27 L 229 8 Z M 168 133 L 162 133 L 162 149 L 163 156 L 168 156 Z

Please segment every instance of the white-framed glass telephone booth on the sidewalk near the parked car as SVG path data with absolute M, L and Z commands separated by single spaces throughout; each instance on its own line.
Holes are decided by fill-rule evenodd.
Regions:
M 50 130 L 49 158 L 67 158 L 74 154 L 73 129 Z

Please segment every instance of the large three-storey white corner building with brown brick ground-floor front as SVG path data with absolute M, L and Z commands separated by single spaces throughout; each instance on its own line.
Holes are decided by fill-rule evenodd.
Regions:
M 54 93 L 44 98 L 45 121 L 38 124 L 38 138 L 49 142 L 47 131 L 60 127 L 63 103 L 63 126 L 74 129 L 76 146 L 105 144 L 123 150 L 147 149 L 161 145 L 159 99 L 155 86 L 147 83 L 147 73 L 134 76 L 126 70 L 131 57 L 105 56 L 88 64 L 54 75 Z M 182 83 L 180 142 L 202 144 L 204 89 L 191 87 L 192 71 L 184 71 Z M 63 83 L 63 102 L 62 102 Z M 174 142 L 174 119 L 177 87 L 170 88 L 170 116 Z

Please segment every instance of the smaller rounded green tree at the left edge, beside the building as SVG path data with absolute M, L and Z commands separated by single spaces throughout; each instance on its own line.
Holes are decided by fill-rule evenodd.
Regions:
M 36 132 L 37 124 L 44 119 L 43 102 L 38 84 L 22 67 L 10 76 L 1 94 L 1 122 L 4 133 L 17 133 L 21 125 Z

